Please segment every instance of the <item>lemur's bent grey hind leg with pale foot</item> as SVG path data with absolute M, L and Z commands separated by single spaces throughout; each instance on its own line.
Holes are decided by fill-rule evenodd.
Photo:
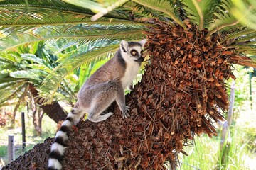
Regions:
M 106 120 L 112 115 L 112 112 L 105 113 L 101 115 L 105 109 L 110 106 L 110 104 L 114 101 L 117 96 L 117 81 L 108 81 L 106 83 L 97 84 L 97 88 L 101 91 L 97 94 L 92 100 L 90 105 L 90 111 L 88 111 L 88 119 L 92 122 L 100 122 Z M 102 93 L 102 91 L 104 91 Z

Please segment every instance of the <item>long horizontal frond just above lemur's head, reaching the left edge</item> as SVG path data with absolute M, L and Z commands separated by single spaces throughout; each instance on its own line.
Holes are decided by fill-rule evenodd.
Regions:
M 11 34 L 0 40 L 0 50 L 11 50 L 21 45 L 27 45 L 32 42 L 43 40 L 72 40 L 73 42 L 83 44 L 86 42 L 95 42 L 97 40 L 112 40 L 122 38 L 137 38 L 142 35 L 142 27 L 134 25 L 98 26 L 42 26 L 26 32 Z

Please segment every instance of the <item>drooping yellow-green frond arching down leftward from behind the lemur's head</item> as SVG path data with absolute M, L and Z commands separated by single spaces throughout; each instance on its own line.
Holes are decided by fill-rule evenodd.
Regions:
M 53 101 L 53 96 L 56 91 L 58 91 L 63 79 L 73 72 L 73 69 L 80 67 L 82 64 L 89 64 L 92 60 L 97 61 L 110 58 L 118 48 L 119 44 L 109 45 L 107 47 L 95 48 L 89 52 L 66 58 L 51 74 L 48 75 L 48 77 L 46 77 L 46 79 L 44 79 L 40 88 L 41 96 L 48 99 L 47 102 L 50 103 Z

